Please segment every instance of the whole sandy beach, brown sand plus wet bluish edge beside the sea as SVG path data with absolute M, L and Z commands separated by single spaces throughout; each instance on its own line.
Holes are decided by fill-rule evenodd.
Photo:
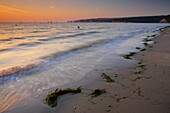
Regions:
M 114 68 L 116 60 L 109 56 L 80 81 L 62 86 L 81 86 L 82 94 L 62 96 L 58 100 L 58 106 L 53 109 L 34 101 L 35 103 L 30 103 L 28 106 L 14 109 L 13 113 L 23 111 L 26 113 L 168 113 L 170 110 L 168 36 L 170 28 L 166 28 L 154 39 L 155 44 L 146 46 L 145 51 L 132 56 L 134 60 L 117 57 L 122 62 L 119 64 L 120 68 L 116 70 Z M 115 82 L 108 83 L 103 80 L 102 73 L 109 75 Z M 105 89 L 107 93 L 91 98 L 89 94 L 96 88 Z M 40 97 L 42 100 L 43 96 Z

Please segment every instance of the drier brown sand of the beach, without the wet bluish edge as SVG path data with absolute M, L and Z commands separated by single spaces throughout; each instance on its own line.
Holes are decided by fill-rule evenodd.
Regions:
M 107 73 L 115 83 L 100 79 L 86 86 L 91 90 L 105 89 L 106 94 L 93 99 L 80 96 L 65 100 L 61 105 L 68 105 L 68 108 L 60 106 L 64 109 L 59 109 L 59 113 L 169 113 L 170 28 L 160 33 L 154 38 L 155 44 L 147 45 L 145 51 L 133 56 L 132 59 L 138 62 L 134 66 L 116 71 L 100 70 L 99 73 Z

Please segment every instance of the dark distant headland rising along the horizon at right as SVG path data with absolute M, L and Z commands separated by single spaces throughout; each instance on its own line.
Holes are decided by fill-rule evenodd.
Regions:
M 121 17 L 121 18 L 91 18 L 68 21 L 71 22 L 113 22 L 113 23 L 170 23 L 170 15 L 159 16 L 138 16 L 138 17 Z

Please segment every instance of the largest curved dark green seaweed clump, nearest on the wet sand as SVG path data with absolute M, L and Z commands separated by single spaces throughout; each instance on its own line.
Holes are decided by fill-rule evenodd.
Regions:
M 45 103 L 47 103 L 52 108 L 56 107 L 58 97 L 68 93 L 73 93 L 73 94 L 81 93 L 81 87 L 78 87 L 77 89 L 72 89 L 72 88 L 56 89 L 47 94 L 45 98 Z

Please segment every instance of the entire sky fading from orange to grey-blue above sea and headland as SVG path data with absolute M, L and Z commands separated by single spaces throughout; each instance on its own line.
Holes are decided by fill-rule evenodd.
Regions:
M 170 0 L 0 0 L 0 22 L 170 14 Z

